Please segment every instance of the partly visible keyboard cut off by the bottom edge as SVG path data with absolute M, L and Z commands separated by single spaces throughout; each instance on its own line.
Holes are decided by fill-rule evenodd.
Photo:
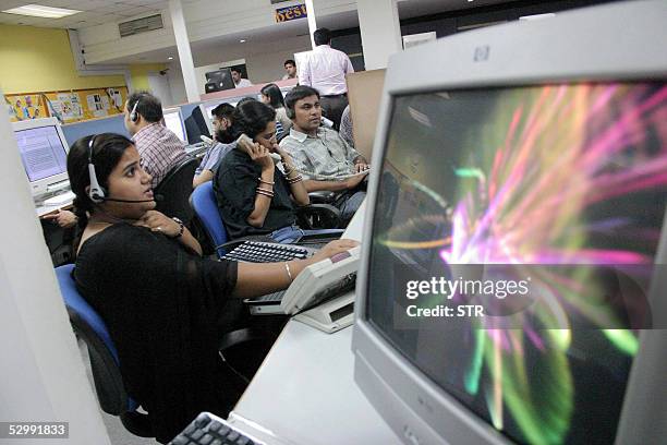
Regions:
M 169 445 L 265 445 L 210 412 L 202 412 Z

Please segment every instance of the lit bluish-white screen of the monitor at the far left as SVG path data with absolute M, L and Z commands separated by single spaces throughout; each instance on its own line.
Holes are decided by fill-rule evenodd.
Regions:
M 15 131 L 14 136 L 31 182 L 66 172 L 68 154 L 56 127 Z

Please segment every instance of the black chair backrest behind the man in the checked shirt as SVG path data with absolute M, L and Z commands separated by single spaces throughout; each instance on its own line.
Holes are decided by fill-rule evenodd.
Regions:
M 169 170 L 165 179 L 155 188 L 155 194 L 162 195 L 162 201 L 157 202 L 156 211 L 170 217 L 175 216 L 185 225 L 190 224 L 192 208 L 187 200 L 192 193 L 192 178 L 198 163 L 198 159 L 185 156 Z

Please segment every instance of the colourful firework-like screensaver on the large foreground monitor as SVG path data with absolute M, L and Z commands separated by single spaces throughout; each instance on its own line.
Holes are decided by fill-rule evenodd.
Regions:
M 652 327 L 666 199 L 664 83 L 397 97 L 368 321 L 507 438 L 613 443 L 640 332 Z M 494 316 L 404 323 L 408 304 L 441 299 L 408 301 L 399 275 L 456 278 L 480 264 L 531 277 L 511 328 Z

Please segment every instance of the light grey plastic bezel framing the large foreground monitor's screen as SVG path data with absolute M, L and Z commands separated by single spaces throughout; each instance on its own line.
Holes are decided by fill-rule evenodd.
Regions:
M 662 43 L 667 40 L 667 32 L 659 17 L 666 14 L 667 4 L 659 1 L 613 3 L 559 13 L 548 20 L 512 22 L 457 34 L 392 56 L 380 103 L 372 159 L 376 168 L 369 178 L 362 239 L 372 239 L 376 191 L 396 97 L 446 89 L 665 81 L 667 55 Z M 366 397 L 405 443 L 511 443 L 403 359 L 365 320 L 369 254 L 371 242 L 366 242 L 357 276 L 352 340 L 355 382 Z M 667 230 L 662 232 L 655 263 L 665 261 Z M 667 303 L 660 301 L 657 290 L 665 288 L 666 278 L 654 279 L 650 294 L 654 313 L 667 313 Z M 662 401 L 647 398 L 651 388 L 662 382 L 662 375 L 651 368 L 667 366 L 667 354 L 662 352 L 665 350 L 667 332 L 641 334 L 617 443 L 630 438 L 634 443 L 650 443 L 657 432 L 667 432 L 667 420 L 655 413 L 660 412 Z M 648 424 L 646 419 L 653 423 Z

